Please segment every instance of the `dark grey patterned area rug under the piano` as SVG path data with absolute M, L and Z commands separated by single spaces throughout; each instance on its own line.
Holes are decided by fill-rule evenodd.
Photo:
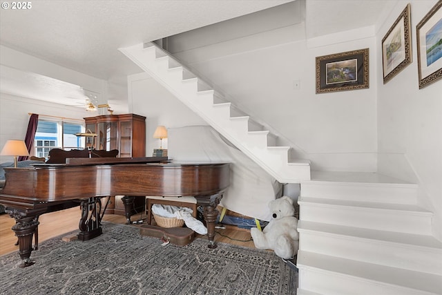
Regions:
M 0 294 L 296 294 L 298 273 L 270 251 L 209 249 L 199 238 L 161 246 L 109 222 L 103 231 L 84 242 L 42 242 L 30 267 L 17 253 L 0 256 Z

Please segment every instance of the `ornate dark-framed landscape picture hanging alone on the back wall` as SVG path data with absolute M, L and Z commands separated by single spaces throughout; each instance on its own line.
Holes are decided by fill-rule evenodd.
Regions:
M 368 48 L 316 57 L 316 93 L 369 87 Z

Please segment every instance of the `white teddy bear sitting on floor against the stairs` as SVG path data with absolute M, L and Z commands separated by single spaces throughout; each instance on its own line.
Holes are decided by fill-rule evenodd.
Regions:
M 256 227 L 250 230 L 251 237 L 258 249 L 272 249 L 283 259 L 294 258 L 298 253 L 298 219 L 296 219 L 293 200 L 283 196 L 269 202 L 272 219 L 260 231 Z

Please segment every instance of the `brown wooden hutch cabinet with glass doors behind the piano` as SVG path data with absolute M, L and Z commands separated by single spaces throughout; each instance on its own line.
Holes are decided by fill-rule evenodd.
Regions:
M 111 151 L 117 149 L 120 158 L 146 157 L 146 117 L 135 114 L 85 117 L 86 131 L 97 137 L 86 137 L 86 147 Z M 111 198 L 105 213 L 124 216 L 123 196 Z M 144 211 L 144 198 L 135 198 L 132 214 Z

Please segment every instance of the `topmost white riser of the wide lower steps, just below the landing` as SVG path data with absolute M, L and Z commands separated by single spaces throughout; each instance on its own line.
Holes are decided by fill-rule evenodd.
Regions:
M 416 204 L 418 195 L 417 187 L 412 185 L 306 182 L 301 185 L 301 196 L 338 200 L 361 200 L 363 202 Z

